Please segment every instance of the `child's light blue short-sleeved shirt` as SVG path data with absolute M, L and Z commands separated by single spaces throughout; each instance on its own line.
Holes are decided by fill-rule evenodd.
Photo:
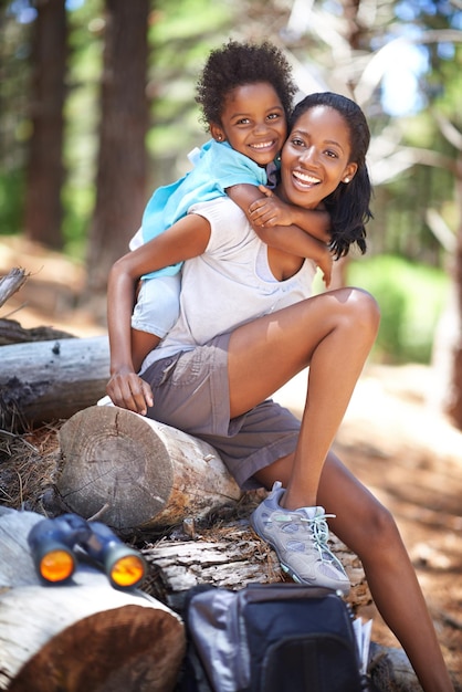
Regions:
M 157 188 L 148 201 L 141 223 L 145 243 L 185 217 L 192 205 L 223 197 L 225 189 L 233 185 L 267 184 L 266 169 L 233 149 L 228 141 L 206 141 L 193 162 L 192 170 L 176 182 Z M 182 262 L 166 266 L 144 279 L 177 274 L 181 265 Z

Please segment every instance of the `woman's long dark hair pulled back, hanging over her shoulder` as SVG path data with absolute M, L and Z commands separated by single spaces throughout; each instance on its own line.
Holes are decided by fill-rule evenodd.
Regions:
M 349 130 L 350 156 L 348 162 L 358 165 L 350 182 L 340 182 L 325 200 L 330 214 L 330 248 L 336 259 L 348 254 L 349 247 L 357 243 L 364 254 L 366 252 L 365 224 L 372 218 L 369 209 L 372 187 L 366 166 L 366 154 L 369 148 L 370 130 L 360 107 L 350 98 L 321 92 L 305 96 L 294 108 L 290 119 L 290 132 L 297 119 L 316 106 L 334 108 L 344 118 Z

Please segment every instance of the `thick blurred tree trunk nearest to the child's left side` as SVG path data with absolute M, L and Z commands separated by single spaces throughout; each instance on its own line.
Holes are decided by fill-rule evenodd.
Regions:
M 87 297 L 106 292 L 146 203 L 148 0 L 106 0 L 96 206 L 87 252 Z

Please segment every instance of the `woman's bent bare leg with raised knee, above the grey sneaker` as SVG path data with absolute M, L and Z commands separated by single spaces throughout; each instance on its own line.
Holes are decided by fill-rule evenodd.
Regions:
M 379 313 L 364 291 L 342 289 L 238 328 L 229 346 L 231 417 L 309 365 L 309 387 L 287 481 L 287 510 L 314 506 L 323 463 L 374 345 Z

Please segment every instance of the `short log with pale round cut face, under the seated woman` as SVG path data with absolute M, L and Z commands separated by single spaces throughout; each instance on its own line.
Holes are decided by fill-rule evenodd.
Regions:
M 64 505 L 116 530 L 180 524 L 241 496 L 210 444 L 114 406 L 75 413 L 60 449 Z

